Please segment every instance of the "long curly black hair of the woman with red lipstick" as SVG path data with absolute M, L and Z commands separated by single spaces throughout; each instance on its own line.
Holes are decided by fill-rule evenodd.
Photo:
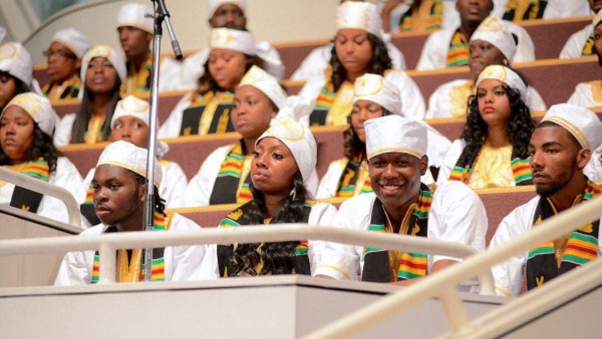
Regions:
M 529 157 L 527 146 L 535 130 L 535 121 L 531 118 L 529 107 L 521 99 L 521 94 L 516 89 L 502 84 L 510 103 L 510 121 L 507 127 L 507 136 L 512 145 L 513 157 L 521 159 Z M 477 153 L 485 142 L 488 127 L 479 112 L 479 102 L 476 95 L 468 97 L 468 115 L 462 131 L 462 139 L 466 142 L 458 163 L 468 163 L 476 159 Z

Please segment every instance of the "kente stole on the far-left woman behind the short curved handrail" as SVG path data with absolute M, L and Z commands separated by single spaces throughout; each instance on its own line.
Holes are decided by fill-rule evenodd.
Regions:
M 45 182 L 48 182 L 50 179 L 50 168 L 48 162 L 43 160 L 43 158 L 32 160 L 17 166 L 7 165 L 4 167 L 25 174 L 26 176 L 44 180 Z M 40 208 L 40 202 L 42 202 L 43 196 L 43 194 L 38 192 L 30 191 L 29 189 L 15 185 L 13 196 L 10 198 L 10 206 L 22 209 L 23 211 L 36 213 L 38 208 Z

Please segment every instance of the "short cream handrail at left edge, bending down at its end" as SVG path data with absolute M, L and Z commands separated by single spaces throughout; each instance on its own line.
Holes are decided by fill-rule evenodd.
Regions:
M 75 227 L 81 227 L 79 204 L 75 201 L 71 192 L 66 189 L 45 182 L 44 180 L 36 179 L 16 171 L 7 170 L 2 166 L 0 166 L 0 180 L 13 183 L 16 186 L 31 191 L 39 192 L 43 195 L 50 195 L 51 197 L 63 201 L 67 207 L 67 213 L 69 214 L 69 224 Z

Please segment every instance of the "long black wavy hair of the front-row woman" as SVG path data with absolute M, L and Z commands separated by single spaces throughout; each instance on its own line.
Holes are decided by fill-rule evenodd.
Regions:
M 249 202 L 248 212 L 240 217 L 238 223 L 241 225 L 263 224 L 267 214 L 264 194 L 258 191 L 252 183 L 249 186 L 253 200 Z M 297 223 L 303 218 L 303 204 L 307 198 L 311 198 L 311 194 L 305 189 L 299 170 L 293 177 L 291 192 L 293 191 L 294 194 L 287 195 L 280 201 L 276 215 L 270 223 Z M 299 245 L 299 241 L 239 244 L 232 252 L 232 268 L 234 270 L 229 275 L 236 276 L 240 272 L 251 276 L 290 274 L 293 270 L 297 270 L 296 255 L 294 254 L 297 245 Z M 261 247 L 260 250 L 259 247 Z M 263 267 L 261 271 L 256 272 L 255 265 L 260 261 L 263 261 Z

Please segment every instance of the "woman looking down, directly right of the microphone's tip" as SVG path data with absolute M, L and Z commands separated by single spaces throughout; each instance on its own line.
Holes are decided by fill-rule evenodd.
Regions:
M 214 28 L 209 46 L 211 52 L 197 89 L 176 104 L 158 138 L 234 131 L 230 118 L 234 90 L 251 66 L 264 68 L 268 61 L 258 56 L 259 47 L 246 30 Z

